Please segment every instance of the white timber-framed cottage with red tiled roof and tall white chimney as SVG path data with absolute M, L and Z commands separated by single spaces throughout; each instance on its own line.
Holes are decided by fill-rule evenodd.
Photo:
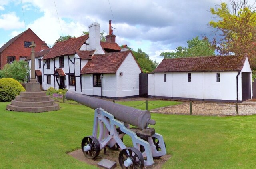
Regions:
M 54 87 L 113 99 L 135 97 L 142 70 L 132 52 L 124 50 L 120 52 L 112 30 L 106 42 L 100 42 L 100 24 L 94 23 L 88 35 L 56 43 L 36 62 L 36 73 L 42 74 L 44 90 Z

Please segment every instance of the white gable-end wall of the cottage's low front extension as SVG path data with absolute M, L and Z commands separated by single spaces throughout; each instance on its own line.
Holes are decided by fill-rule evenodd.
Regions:
M 120 72 L 123 72 L 123 76 L 119 75 Z M 132 54 L 129 53 L 116 72 L 117 97 L 139 95 L 140 73 L 141 70 L 137 62 Z

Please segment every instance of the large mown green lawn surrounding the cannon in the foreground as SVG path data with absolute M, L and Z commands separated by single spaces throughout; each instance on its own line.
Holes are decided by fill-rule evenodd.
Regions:
M 21 113 L 6 111 L 7 104 L 0 103 L 0 168 L 96 168 L 66 154 L 92 135 L 94 110 L 60 103 L 59 111 Z M 256 115 L 152 119 L 172 155 L 164 168 L 255 168 Z

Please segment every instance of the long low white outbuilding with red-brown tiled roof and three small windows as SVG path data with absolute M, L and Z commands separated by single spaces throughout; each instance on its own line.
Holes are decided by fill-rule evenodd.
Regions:
M 246 54 L 164 59 L 148 74 L 148 96 L 195 101 L 242 102 L 252 98 Z

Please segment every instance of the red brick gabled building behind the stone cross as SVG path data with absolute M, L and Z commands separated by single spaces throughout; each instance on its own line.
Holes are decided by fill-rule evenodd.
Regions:
M 35 52 L 48 49 L 47 44 L 42 41 L 30 28 L 15 36 L 0 48 L 0 69 L 5 64 L 14 60 L 25 60 L 31 55 L 31 42 L 36 42 Z

